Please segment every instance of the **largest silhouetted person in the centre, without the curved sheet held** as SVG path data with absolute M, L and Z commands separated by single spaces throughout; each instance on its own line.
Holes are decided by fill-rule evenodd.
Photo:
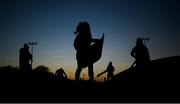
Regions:
M 88 74 L 90 80 L 94 79 L 94 72 L 93 72 L 93 60 L 91 60 L 91 43 L 97 42 L 99 39 L 93 39 L 91 36 L 90 26 L 87 22 L 79 22 L 76 32 L 76 39 L 74 40 L 74 47 L 77 51 L 76 59 L 77 59 L 77 70 L 75 73 L 75 79 L 79 80 L 80 73 L 82 68 L 85 68 L 87 64 L 88 67 Z

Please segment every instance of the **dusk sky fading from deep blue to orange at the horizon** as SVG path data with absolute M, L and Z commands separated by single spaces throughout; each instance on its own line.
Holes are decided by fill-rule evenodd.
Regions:
M 90 24 L 93 38 L 105 34 L 95 75 L 109 61 L 115 74 L 130 67 L 137 37 L 150 38 L 146 46 L 151 60 L 180 55 L 179 5 L 178 0 L 1 0 L 0 66 L 18 66 L 19 49 L 25 42 L 37 42 L 33 68 L 44 65 L 52 72 L 63 68 L 74 78 L 73 31 L 81 21 Z M 84 69 L 81 77 L 87 72 Z

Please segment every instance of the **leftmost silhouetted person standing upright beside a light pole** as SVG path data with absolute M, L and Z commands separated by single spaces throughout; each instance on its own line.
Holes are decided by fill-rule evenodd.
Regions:
M 31 70 L 30 61 L 32 61 L 32 55 L 29 52 L 29 46 L 25 43 L 24 47 L 19 50 L 19 67 L 20 70 Z

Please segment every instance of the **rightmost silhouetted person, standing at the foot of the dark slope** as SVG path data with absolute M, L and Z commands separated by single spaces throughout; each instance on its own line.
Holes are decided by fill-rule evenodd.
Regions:
M 143 69 L 150 62 L 149 51 L 143 44 L 142 38 L 137 38 L 136 46 L 132 49 L 130 54 L 136 59 L 135 63 L 138 69 Z

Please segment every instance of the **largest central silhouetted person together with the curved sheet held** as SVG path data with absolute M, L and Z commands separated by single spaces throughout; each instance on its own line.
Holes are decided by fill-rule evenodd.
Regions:
M 77 70 L 75 79 L 79 80 L 82 68 L 88 67 L 89 78 L 90 80 L 94 80 L 93 64 L 101 57 L 104 34 L 101 39 L 93 39 L 90 25 L 86 21 L 79 22 L 74 34 L 76 35 L 74 48 L 77 51 Z

